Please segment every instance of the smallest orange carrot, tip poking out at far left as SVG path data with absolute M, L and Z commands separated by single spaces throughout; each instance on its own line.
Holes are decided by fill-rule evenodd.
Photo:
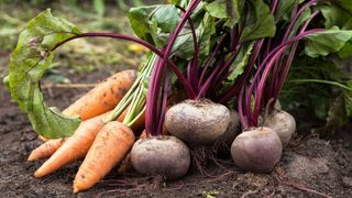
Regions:
M 55 151 L 63 145 L 66 139 L 55 139 L 44 142 L 30 154 L 28 161 L 35 161 L 52 156 Z

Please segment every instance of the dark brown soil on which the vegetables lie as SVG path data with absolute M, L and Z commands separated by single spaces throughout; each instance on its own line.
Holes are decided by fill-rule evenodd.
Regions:
M 107 75 L 95 72 L 75 76 L 74 82 L 92 82 Z M 43 91 L 48 105 L 64 108 L 86 90 Z M 0 197 L 352 197 L 351 129 L 345 127 L 324 140 L 296 135 L 272 174 L 242 172 L 227 157 L 220 166 L 208 165 L 207 174 L 193 169 L 174 182 L 112 170 L 92 189 L 74 195 L 72 185 L 79 161 L 42 179 L 33 177 L 44 161 L 26 162 L 26 157 L 42 141 L 1 85 Z M 309 128 L 299 128 L 298 132 L 308 134 Z

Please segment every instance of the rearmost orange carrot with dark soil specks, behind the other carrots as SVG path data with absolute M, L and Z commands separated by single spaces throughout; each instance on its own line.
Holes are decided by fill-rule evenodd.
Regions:
M 123 70 L 107 78 L 63 111 L 65 116 L 94 118 L 113 109 L 136 78 L 135 70 Z

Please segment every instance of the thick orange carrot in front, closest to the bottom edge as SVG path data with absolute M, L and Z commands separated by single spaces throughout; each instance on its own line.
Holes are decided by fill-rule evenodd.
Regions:
M 112 167 L 123 160 L 134 143 L 134 134 L 121 122 L 107 123 L 89 148 L 74 182 L 74 193 L 97 184 Z

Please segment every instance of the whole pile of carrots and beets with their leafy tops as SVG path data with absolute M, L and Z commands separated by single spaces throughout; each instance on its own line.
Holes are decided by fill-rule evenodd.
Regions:
M 290 67 L 296 59 L 352 55 L 349 1 L 173 0 L 129 11 L 136 37 L 82 33 L 44 11 L 21 33 L 4 79 L 47 139 L 29 157 L 48 157 L 34 176 L 84 158 L 75 193 L 117 165 L 121 173 L 132 164 L 143 175 L 175 179 L 187 174 L 193 150 L 219 143 L 240 168 L 271 172 L 296 131 L 278 101 Z M 61 112 L 44 103 L 40 80 L 56 48 L 84 37 L 131 41 L 150 52 L 139 72 L 107 78 Z M 351 81 L 334 85 L 351 117 Z

